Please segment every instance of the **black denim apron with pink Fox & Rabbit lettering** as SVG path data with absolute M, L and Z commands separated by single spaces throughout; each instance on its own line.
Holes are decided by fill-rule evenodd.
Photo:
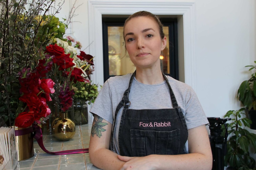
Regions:
M 116 108 L 113 122 L 111 145 L 118 111 L 124 106 L 118 132 L 119 150 L 122 156 L 147 156 L 151 154 L 177 155 L 184 154 L 188 130 L 184 115 L 178 106 L 173 90 L 163 74 L 170 89 L 171 109 L 129 109 L 133 73 L 128 89 Z

